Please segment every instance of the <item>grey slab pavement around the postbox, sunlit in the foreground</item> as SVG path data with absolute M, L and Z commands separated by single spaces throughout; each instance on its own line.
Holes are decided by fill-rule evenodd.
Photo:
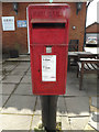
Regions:
M 76 69 L 70 68 L 67 72 L 66 94 L 59 96 L 57 101 L 56 119 L 63 131 L 96 131 L 88 124 L 91 113 L 90 98 L 96 96 L 96 75 L 84 76 L 80 91 Z M 6 61 L 0 76 L 0 130 L 34 132 L 41 120 L 41 100 L 32 94 L 30 59 Z

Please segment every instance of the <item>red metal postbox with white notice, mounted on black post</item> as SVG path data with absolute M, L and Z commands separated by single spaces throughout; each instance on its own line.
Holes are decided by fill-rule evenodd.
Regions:
M 69 6 L 31 4 L 28 12 L 33 94 L 64 95 Z

